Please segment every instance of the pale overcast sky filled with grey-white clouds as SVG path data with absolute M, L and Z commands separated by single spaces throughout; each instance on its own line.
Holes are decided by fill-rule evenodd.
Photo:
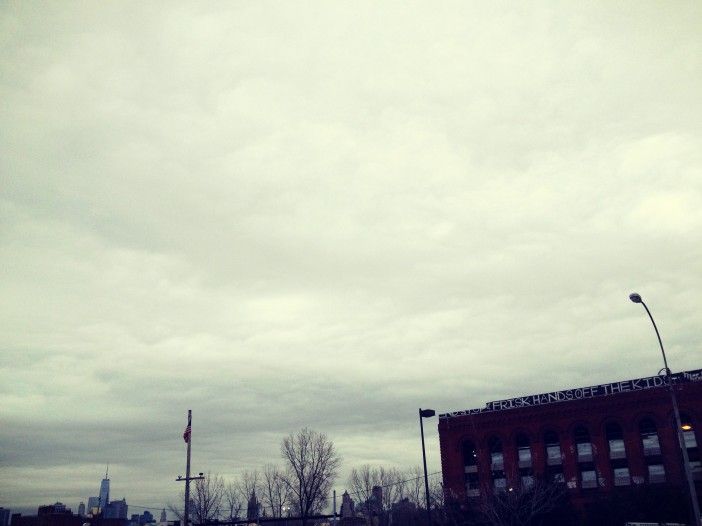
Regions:
M 702 4 L 2 2 L 0 506 L 702 367 Z M 427 421 L 430 470 L 440 469 Z M 132 507 L 130 512 L 140 510 Z

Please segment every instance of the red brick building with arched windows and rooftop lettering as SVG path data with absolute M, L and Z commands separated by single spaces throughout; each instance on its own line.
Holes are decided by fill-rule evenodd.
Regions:
M 702 370 L 673 375 L 702 495 Z M 620 486 L 686 487 L 670 393 L 653 376 L 489 402 L 439 415 L 445 487 L 460 499 L 563 483 L 583 507 Z

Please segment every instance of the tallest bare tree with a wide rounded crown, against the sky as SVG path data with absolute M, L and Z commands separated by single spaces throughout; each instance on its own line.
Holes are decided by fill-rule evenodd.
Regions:
M 308 428 L 284 438 L 280 452 L 288 468 L 285 483 L 303 526 L 307 526 L 308 517 L 321 512 L 327 502 L 341 457 L 327 435 Z

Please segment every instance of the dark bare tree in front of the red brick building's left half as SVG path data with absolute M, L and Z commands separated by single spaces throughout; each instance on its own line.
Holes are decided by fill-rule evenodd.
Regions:
M 493 526 L 527 526 L 553 510 L 564 493 L 560 484 L 535 482 L 528 488 L 487 495 L 481 506 L 484 518 Z

